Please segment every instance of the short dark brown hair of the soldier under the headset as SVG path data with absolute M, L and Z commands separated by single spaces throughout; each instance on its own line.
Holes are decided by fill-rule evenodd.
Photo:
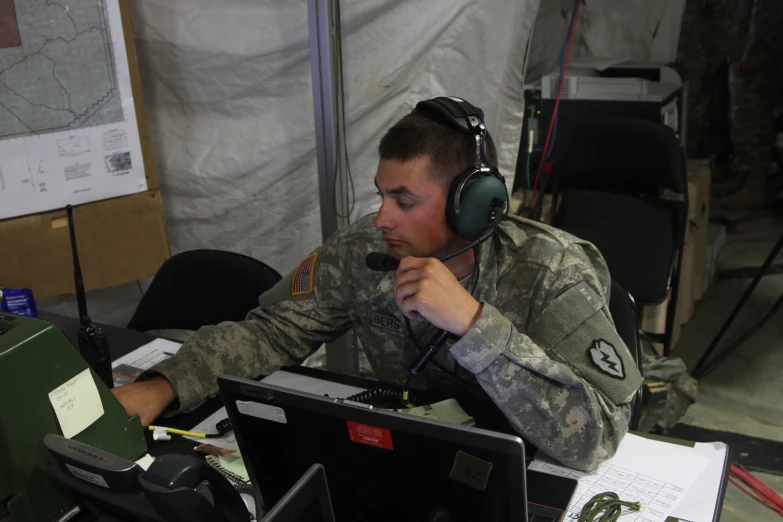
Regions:
M 495 143 L 487 131 L 487 161 L 497 167 Z M 432 175 L 446 183 L 476 164 L 476 138 L 440 123 L 426 111 L 413 110 L 395 123 L 378 145 L 381 159 L 408 161 L 428 156 Z

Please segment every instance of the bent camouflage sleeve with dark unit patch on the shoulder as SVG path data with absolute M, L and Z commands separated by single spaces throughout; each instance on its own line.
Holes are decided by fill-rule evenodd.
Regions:
M 483 303 L 451 354 L 522 436 L 590 470 L 614 455 L 628 431 L 642 378 L 609 315 L 608 273 L 602 285 L 581 246 L 559 257 L 554 268 L 540 269 L 531 301 L 519 303 L 530 310 L 526 334 Z

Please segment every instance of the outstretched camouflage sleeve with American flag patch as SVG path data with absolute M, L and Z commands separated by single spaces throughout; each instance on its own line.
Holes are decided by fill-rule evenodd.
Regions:
M 349 227 L 350 228 L 350 227 Z M 177 391 L 167 413 L 187 410 L 217 393 L 222 374 L 256 378 L 299 364 L 350 327 L 341 281 L 338 232 L 259 297 L 244 321 L 200 328 L 171 357 L 142 374 L 160 375 Z

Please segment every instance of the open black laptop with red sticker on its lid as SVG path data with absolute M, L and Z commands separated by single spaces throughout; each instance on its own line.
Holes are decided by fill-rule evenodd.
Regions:
M 559 521 L 576 487 L 552 477 L 568 486 L 554 495 L 564 504 L 529 516 L 519 437 L 237 377 L 218 384 L 267 508 L 313 464 L 326 471 L 337 521 Z

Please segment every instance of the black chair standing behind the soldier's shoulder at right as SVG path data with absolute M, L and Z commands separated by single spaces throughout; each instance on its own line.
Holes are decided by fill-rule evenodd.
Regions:
M 669 300 L 666 331 L 651 334 L 672 349 L 682 248 L 688 218 L 685 154 L 665 125 L 605 118 L 578 126 L 558 168 L 554 225 L 593 243 L 612 278 L 637 303 Z M 682 200 L 661 199 L 663 188 Z M 657 337 L 657 338 L 656 338 Z

